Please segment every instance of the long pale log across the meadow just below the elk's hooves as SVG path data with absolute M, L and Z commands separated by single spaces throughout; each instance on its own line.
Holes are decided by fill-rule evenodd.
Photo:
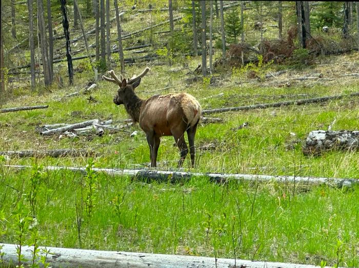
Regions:
M 16 166 L 5 165 L 5 167 L 13 169 L 28 169 L 32 166 Z M 78 171 L 86 174 L 86 168 L 62 167 L 62 166 L 48 166 L 47 170 L 70 170 Z M 220 173 L 193 173 L 193 172 L 177 172 L 177 171 L 157 171 L 149 169 L 139 170 L 120 170 L 107 168 L 93 168 L 94 172 L 104 172 L 110 176 L 131 176 L 136 179 L 143 179 L 146 181 L 170 181 L 177 182 L 191 177 L 208 177 L 210 180 L 224 183 L 228 180 L 240 181 L 256 181 L 256 182 L 278 182 L 278 183 L 295 183 L 303 185 L 318 185 L 326 184 L 334 187 L 351 187 L 354 184 L 359 184 L 359 178 L 342 179 L 342 178 L 318 178 L 318 177 L 297 177 L 297 176 L 270 176 L 270 175 L 252 175 L 252 174 L 220 174 Z

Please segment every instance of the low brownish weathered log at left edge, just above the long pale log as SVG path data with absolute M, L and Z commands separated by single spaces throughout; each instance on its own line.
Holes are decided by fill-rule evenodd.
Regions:
M 94 152 L 92 150 L 78 150 L 78 149 L 54 149 L 47 151 L 6 151 L 0 152 L 0 155 L 7 155 L 9 157 L 79 157 L 79 156 L 91 156 Z

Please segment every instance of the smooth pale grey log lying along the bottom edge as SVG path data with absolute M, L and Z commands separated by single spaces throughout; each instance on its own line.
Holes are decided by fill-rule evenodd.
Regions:
M 18 245 L 0 244 L 2 246 L 3 264 L 6 267 L 10 263 L 18 263 L 17 249 Z M 33 246 L 22 245 L 21 254 L 24 255 L 22 263 L 32 264 Z M 46 256 L 46 253 L 49 254 Z M 38 255 L 47 257 L 46 263 L 51 267 L 246 267 L 246 268 L 316 268 L 314 265 L 294 264 L 283 262 L 267 262 L 267 261 L 251 261 L 241 259 L 222 259 L 215 257 L 201 256 L 183 256 L 169 254 L 153 254 L 153 253 L 137 253 L 137 252 L 121 252 L 121 251 L 98 251 L 98 250 L 81 250 L 81 249 L 65 249 L 52 248 L 51 246 L 39 246 Z M 26 265 L 26 266 L 27 266 Z M 323 268 L 329 268 L 325 266 Z M 341 267 L 338 267 L 341 268 Z

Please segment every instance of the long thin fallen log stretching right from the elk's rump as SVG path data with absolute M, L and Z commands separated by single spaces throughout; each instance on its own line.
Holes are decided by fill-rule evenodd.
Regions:
M 202 114 L 223 113 L 223 112 L 230 112 L 230 111 L 248 111 L 248 110 L 255 110 L 255 109 L 266 109 L 266 108 L 270 108 L 270 107 L 312 104 L 315 102 L 322 102 L 322 101 L 327 101 L 327 100 L 331 100 L 331 99 L 341 99 L 344 97 L 356 97 L 356 96 L 359 96 L 359 92 L 354 92 L 349 95 L 325 96 L 325 97 L 320 97 L 320 98 L 307 98 L 307 99 L 280 101 L 280 102 L 274 102 L 274 103 L 269 103 L 269 104 L 257 104 L 257 105 L 249 105 L 249 106 L 203 110 Z

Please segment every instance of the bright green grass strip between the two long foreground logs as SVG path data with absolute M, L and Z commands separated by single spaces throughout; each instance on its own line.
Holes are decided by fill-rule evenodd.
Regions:
M 27 170 L 2 178 L 12 187 L 0 194 L 7 214 L 2 242 L 16 243 L 16 217 L 10 215 L 14 203 L 28 205 L 28 200 L 14 189 L 27 193 L 30 177 Z M 274 182 L 236 181 L 222 185 L 207 178 L 147 184 L 98 174 L 88 217 L 86 181 L 68 171 L 42 174 L 35 199 L 36 228 L 46 237 L 41 244 L 222 258 L 234 258 L 235 249 L 236 258 L 242 259 L 308 264 L 326 260 L 334 265 L 339 240 L 340 264 L 357 267 L 359 263 L 357 188 L 294 189 Z M 81 196 L 80 243 L 75 203 L 81 203 Z

